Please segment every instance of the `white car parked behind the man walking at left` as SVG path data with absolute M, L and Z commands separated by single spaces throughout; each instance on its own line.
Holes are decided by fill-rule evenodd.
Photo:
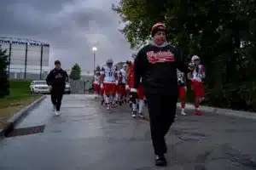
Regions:
M 44 80 L 32 81 L 30 84 L 32 94 L 49 94 L 49 87 Z

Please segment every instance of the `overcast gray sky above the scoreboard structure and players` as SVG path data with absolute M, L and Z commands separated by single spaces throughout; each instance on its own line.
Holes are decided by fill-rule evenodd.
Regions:
M 96 45 L 96 64 L 108 58 L 130 59 L 131 49 L 118 31 L 118 14 L 112 3 L 119 0 L 1 0 L 0 37 L 21 37 L 49 42 L 50 66 L 60 59 L 62 67 L 79 63 L 93 68 L 91 48 Z

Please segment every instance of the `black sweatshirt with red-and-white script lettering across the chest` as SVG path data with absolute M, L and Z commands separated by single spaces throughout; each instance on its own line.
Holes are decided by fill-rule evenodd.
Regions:
M 134 88 L 138 88 L 142 77 L 144 94 L 176 96 L 177 69 L 189 72 L 177 48 L 168 44 L 162 47 L 148 44 L 138 52 L 134 64 Z

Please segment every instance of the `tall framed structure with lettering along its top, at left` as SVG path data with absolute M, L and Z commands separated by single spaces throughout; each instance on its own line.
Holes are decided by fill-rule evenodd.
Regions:
M 49 72 L 49 44 L 16 37 L 0 37 L 9 55 L 9 78 L 45 79 Z

